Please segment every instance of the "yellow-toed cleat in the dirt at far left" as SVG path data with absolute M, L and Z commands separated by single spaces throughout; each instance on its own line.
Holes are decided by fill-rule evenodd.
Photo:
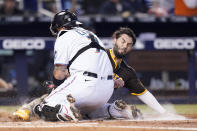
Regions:
M 30 111 L 27 109 L 19 109 L 13 113 L 17 119 L 28 121 L 30 119 Z

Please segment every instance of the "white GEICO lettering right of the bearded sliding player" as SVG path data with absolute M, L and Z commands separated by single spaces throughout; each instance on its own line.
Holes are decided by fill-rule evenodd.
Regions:
M 194 49 L 195 41 L 192 39 L 156 39 L 155 49 Z

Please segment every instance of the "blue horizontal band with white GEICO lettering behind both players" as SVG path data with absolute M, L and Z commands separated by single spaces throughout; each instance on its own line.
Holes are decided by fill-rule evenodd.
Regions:
M 52 50 L 52 37 L 0 37 L 0 49 L 7 50 Z M 106 48 L 112 47 L 111 38 L 101 38 Z M 197 38 L 156 38 L 138 40 L 134 50 L 197 50 Z

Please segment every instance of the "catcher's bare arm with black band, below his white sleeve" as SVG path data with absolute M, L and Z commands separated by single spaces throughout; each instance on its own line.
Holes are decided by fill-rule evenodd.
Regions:
M 61 85 L 66 78 L 69 77 L 69 72 L 66 65 L 55 64 L 53 71 L 53 83 L 56 86 Z

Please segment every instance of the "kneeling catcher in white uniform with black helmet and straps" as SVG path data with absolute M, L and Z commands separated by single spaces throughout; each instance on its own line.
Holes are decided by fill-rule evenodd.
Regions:
M 102 108 L 114 90 L 113 68 L 100 39 L 79 24 L 75 14 L 68 10 L 54 16 L 50 30 L 57 35 L 53 73 L 57 88 L 23 106 L 14 115 L 29 120 L 30 114 L 37 114 L 48 121 L 79 120 L 81 115 L 105 117 L 106 112 L 112 117 L 133 117 L 131 112 L 124 111 L 123 101 Z

